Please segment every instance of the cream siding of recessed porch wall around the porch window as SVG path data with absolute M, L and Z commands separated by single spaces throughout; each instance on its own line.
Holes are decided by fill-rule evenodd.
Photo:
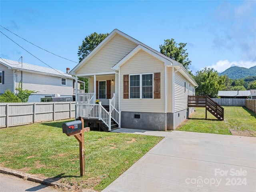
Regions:
M 118 78 L 118 76 L 117 76 Z M 116 86 L 116 83 L 118 83 L 116 80 L 115 80 L 115 75 L 104 75 L 104 76 L 96 76 L 96 80 L 97 81 L 106 81 L 106 80 L 114 80 L 114 83 L 111 82 L 111 98 L 113 97 L 113 93 L 115 92 L 115 86 Z M 118 86 L 118 84 L 117 84 Z M 89 90 L 90 93 L 94 93 L 94 76 L 92 76 L 90 78 L 90 90 Z M 99 99 L 102 103 L 102 105 L 108 105 L 109 104 L 109 100 L 108 99 Z

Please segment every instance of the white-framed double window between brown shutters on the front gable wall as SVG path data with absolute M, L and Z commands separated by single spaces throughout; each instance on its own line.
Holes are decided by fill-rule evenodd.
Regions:
M 153 98 L 153 74 L 130 75 L 130 98 Z

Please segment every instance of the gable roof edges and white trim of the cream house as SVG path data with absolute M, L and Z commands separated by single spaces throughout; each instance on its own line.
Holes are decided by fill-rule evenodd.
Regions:
M 196 81 L 194 80 L 194 78 L 192 78 L 192 76 L 188 73 L 188 71 L 184 68 L 184 66 L 182 64 L 180 64 L 179 62 L 177 62 L 176 60 L 173 60 L 167 56 L 165 56 L 164 54 L 154 50 L 153 48 L 145 45 L 144 43 L 132 38 L 131 36 L 125 34 L 124 32 L 118 30 L 118 29 L 114 29 L 100 44 L 98 44 L 98 46 L 96 46 L 96 48 L 94 48 L 94 50 L 92 50 L 92 52 L 90 52 L 90 54 L 88 54 L 80 63 L 78 63 L 71 71 L 69 74 L 75 75 L 76 71 L 79 70 L 82 66 L 84 66 L 84 64 L 86 64 L 86 62 L 88 60 L 90 60 L 104 45 L 106 45 L 116 34 L 119 34 L 121 36 L 123 36 L 124 38 L 127 38 L 128 40 L 140 45 L 140 47 L 136 47 L 134 48 L 134 50 L 136 51 L 136 49 L 140 48 L 144 50 L 146 50 L 146 52 L 148 53 L 154 53 L 152 54 L 153 56 L 155 55 L 155 57 L 157 58 L 162 58 L 164 60 L 166 60 L 165 65 L 167 65 L 166 63 L 169 63 L 170 66 L 180 66 L 180 68 L 182 68 L 183 71 L 183 75 L 186 76 L 186 78 L 190 79 L 190 81 L 195 85 L 198 86 L 198 84 L 196 83 Z M 131 52 L 133 52 L 134 50 L 132 50 Z M 134 52 L 135 52 L 134 51 Z M 129 54 L 128 54 L 129 55 Z M 158 55 L 158 56 L 156 56 Z M 124 59 L 124 58 L 123 58 Z M 160 59 L 160 60 L 162 60 Z M 118 62 L 120 63 L 120 61 Z M 116 66 L 116 65 L 114 65 Z M 113 69 L 115 68 L 113 66 Z

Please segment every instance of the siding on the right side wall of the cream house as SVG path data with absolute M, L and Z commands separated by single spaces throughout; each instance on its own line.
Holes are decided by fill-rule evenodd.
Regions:
M 185 82 L 186 82 L 186 91 L 185 90 Z M 188 108 L 188 80 L 186 80 L 179 72 L 175 73 L 175 91 L 174 91 L 174 109 L 175 112 L 184 110 Z M 194 88 L 190 84 L 190 94 L 192 94 L 191 90 Z

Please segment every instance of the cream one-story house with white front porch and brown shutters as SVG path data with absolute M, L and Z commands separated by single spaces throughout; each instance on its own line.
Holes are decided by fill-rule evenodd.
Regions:
M 70 74 L 89 79 L 90 93 L 76 92 L 76 117 L 108 130 L 174 130 L 194 111 L 188 95 L 198 84 L 182 64 L 117 29 Z

